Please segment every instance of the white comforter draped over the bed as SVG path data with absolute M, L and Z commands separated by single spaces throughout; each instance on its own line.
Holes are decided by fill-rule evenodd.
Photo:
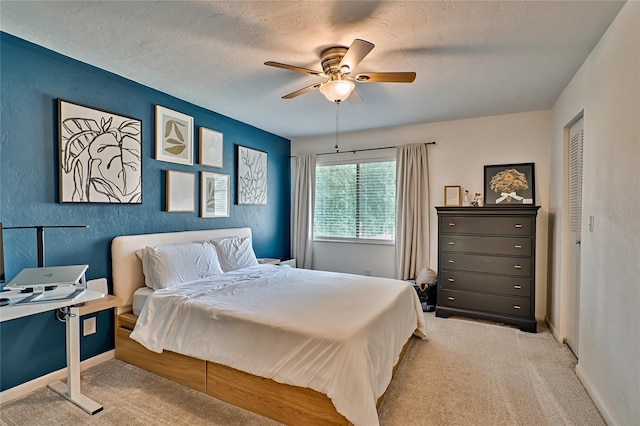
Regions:
M 263 265 L 154 292 L 131 338 L 315 389 L 355 425 L 377 425 L 412 333 L 425 323 L 408 283 Z

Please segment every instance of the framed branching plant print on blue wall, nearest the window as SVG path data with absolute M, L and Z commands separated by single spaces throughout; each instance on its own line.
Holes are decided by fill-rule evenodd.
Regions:
M 241 145 L 237 147 L 237 203 L 267 204 L 267 153 Z

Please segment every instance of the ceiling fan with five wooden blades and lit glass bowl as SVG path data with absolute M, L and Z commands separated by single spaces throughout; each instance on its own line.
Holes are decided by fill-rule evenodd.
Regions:
M 323 71 L 315 71 L 295 65 L 268 61 L 265 65 L 286 70 L 311 74 L 326 79 L 295 92 L 284 95 L 282 99 L 292 99 L 304 93 L 320 89 L 320 92 L 331 102 L 340 103 L 346 99 L 350 103 L 362 101 L 362 97 L 355 90 L 355 83 L 411 83 L 416 79 L 415 72 L 368 72 L 353 74 L 360 61 L 371 52 L 374 44 L 365 40 L 355 39 L 347 49 L 342 46 L 330 47 L 322 52 L 320 64 Z

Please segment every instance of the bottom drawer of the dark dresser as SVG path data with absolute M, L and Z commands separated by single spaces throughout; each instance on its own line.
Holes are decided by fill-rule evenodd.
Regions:
M 442 306 L 518 317 L 529 317 L 531 314 L 528 298 L 444 289 L 439 292 L 438 305 Z

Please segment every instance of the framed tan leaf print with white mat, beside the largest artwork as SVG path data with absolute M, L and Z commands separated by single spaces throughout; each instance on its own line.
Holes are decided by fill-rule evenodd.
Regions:
M 193 165 L 193 117 L 156 105 L 156 160 Z

